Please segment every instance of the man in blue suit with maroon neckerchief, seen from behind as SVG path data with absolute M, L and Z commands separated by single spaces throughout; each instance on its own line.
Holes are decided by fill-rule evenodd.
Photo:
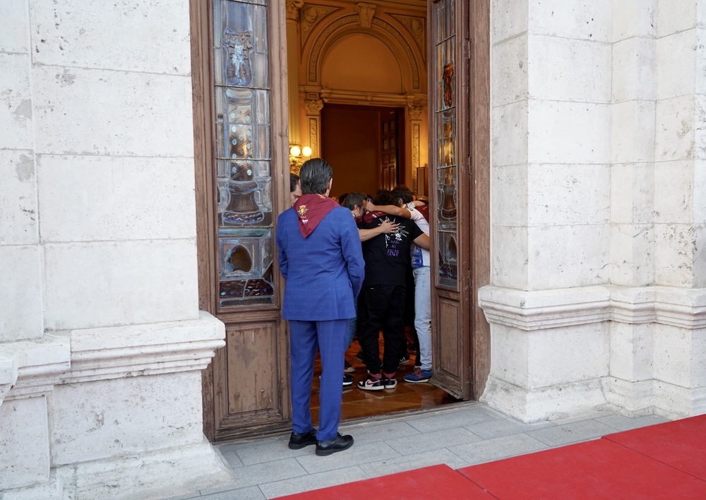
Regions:
M 301 192 L 294 207 L 277 218 L 277 255 L 285 285 L 282 318 L 289 320 L 292 435 L 289 448 L 316 444 L 316 454 L 350 448 L 352 436 L 338 432 L 348 320 L 363 283 L 358 228 L 350 210 L 328 198 L 333 170 L 321 158 L 301 166 Z M 311 382 L 321 353 L 319 429 L 311 422 Z

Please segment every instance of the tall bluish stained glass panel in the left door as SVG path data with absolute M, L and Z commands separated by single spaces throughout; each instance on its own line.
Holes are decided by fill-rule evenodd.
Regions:
M 213 4 L 221 307 L 274 304 L 267 20 L 265 1 Z

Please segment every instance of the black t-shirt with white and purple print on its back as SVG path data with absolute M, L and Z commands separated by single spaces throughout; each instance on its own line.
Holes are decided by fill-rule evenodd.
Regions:
M 364 287 L 373 285 L 405 286 L 407 268 L 409 267 L 409 246 L 414 239 L 424 234 L 419 227 L 409 219 L 383 213 L 369 213 L 357 220 L 358 229 L 373 229 L 387 219 L 397 222 L 400 230 L 397 233 L 378 234 L 363 242 L 363 258 L 365 260 Z

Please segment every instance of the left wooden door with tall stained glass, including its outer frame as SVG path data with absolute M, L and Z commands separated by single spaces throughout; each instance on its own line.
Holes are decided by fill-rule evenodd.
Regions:
M 275 222 L 289 194 L 285 1 L 191 0 L 199 306 L 225 323 L 204 432 L 289 429 Z

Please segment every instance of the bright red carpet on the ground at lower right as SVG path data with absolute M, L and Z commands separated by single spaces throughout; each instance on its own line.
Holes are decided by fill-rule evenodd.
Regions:
M 433 465 L 281 499 L 706 499 L 706 415 L 453 470 Z

